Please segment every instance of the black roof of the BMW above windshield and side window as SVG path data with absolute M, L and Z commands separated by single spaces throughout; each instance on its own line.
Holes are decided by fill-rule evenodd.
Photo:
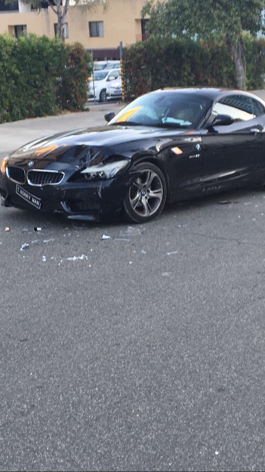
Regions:
M 168 91 L 169 93 L 178 91 L 180 93 L 190 93 L 193 95 L 204 96 L 211 99 L 212 101 L 217 101 L 220 98 L 222 98 L 222 96 L 224 95 L 226 96 L 235 95 L 235 94 L 244 95 L 244 96 L 255 98 L 255 100 L 265 105 L 265 102 L 261 98 L 259 98 L 257 95 L 254 95 L 254 93 L 247 92 L 244 90 L 239 90 L 239 89 L 221 89 L 221 88 L 218 89 L 218 88 L 213 88 L 213 87 L 196 87 L 196 88 L 195 87 L 186 87 L 186 88 L 168 87 L 168 88 L 155 90 L 155 92 L 159 92 L 162 90 Z

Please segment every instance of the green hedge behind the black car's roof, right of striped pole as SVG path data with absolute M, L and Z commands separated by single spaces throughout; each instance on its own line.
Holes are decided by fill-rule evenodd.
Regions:
M 248 89 L 264 86 L 265 40 L 245 37 Z M 128 99 L 161 87 L 236 87 L 235 68 L 224 44 L 151 37 L 124 51 Z

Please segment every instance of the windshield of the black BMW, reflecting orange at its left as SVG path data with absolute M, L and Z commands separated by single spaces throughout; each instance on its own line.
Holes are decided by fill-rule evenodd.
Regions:
M 178 90 L 161 90 L 137 98 L 121 110 L 109 124 L 192 127 L 205 113 L 209 104 L 210 100 L 199 95 Z

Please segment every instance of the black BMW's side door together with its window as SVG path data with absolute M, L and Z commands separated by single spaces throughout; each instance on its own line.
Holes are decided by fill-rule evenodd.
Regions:
M 265 146 L 260 119 L 264 112 L 262 104 L 247 95 L 228 95 L 215 103 L 208 123 L 219 114 L 231 116 L 234 122 L 203 132 L 204 191 L 241 185 L 253 175 Z

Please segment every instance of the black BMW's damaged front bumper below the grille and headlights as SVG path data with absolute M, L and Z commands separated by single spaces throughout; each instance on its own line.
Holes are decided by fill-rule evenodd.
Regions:
M 128 173 L 107 180 L 87 182 L 65 182 L 59 185 L 31 186 L 27 182 L 19 184 L 22 193 L 40 200 L 40 207 L 19 195 L 18 184 L 0 174 L 1 204 L 5 207 L 18 207 L 50 213 L 62 213 L 67 218 L 79 220 L 113 220 L 120 217 L 127 189 L 134 177 Z M 34 199 L 33 199 L 34 201 Z

